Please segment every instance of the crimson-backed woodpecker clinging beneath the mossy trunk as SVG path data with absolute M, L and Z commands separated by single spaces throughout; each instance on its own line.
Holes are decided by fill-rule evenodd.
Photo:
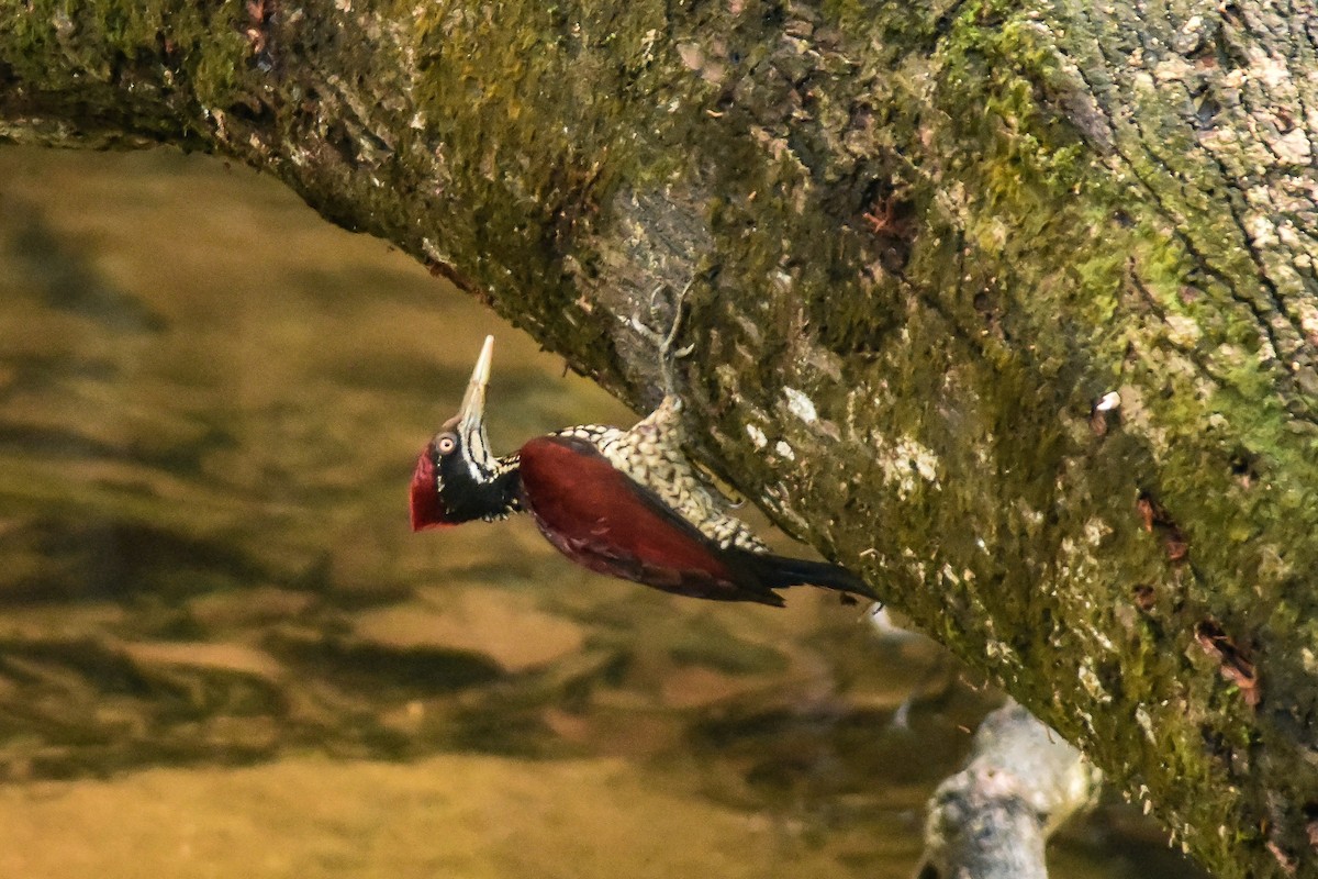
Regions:
M 683 452 L 681 402 L 666 394 L 631 430 L 583 424 L 497 457 L 485 434 L 488 336 L 457 415 L 416 459 L 414 531 L 529 511 L 563 555 L 664 592 L 783 606 L 774 592 L 816 585 L 879 601 L 845 568 L 772 555 Z

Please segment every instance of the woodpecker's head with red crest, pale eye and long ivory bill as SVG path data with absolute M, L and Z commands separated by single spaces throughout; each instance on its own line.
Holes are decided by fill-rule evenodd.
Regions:
M 515 461 L 494 457 L 485 436 L 485 386 L 494 336 L 485 337 L 463 406 L 416 459 L 411 482 L 413 531 L 498 519 L 515 509 Z

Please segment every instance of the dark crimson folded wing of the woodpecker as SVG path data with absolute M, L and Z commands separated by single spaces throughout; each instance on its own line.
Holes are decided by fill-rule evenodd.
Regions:
M 782 605 L 725 553 L 590 443 L 542 436 L 522 447 L 526 506 L 554 546 L 592 571 L 666 592 Z

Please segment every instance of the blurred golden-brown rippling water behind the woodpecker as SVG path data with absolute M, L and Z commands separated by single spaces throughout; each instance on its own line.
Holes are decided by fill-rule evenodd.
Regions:
M 0 150 L 0 875 L 911 872 L 995 698 L 928 642 L 410 532 L 488 332 L 496 447 L 633 418 L 273 181 Z M 1126 809 L 1054 850 L 1197 875 Z

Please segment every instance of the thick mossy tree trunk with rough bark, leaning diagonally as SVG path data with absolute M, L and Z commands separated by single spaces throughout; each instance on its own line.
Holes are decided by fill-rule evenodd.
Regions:
M 1311 875 L 1315 22 L 0 0 L 0 137 L 268 170 L 638 407 L 691 283 L 718 470 L 1220 875 Z

